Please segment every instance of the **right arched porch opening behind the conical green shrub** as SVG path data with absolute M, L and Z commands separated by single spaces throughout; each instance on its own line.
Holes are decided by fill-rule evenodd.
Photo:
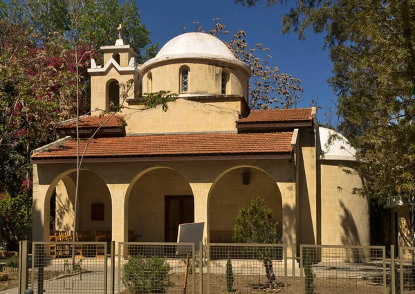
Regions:
M 239 167 L 215 181 L 208 199 L 208 238 L 210 242 L 232 242 L 239 210 L 261 197 L 273 210 L 282 236 L 282 195 L 277 183 L 266 172 L 255 167 Z

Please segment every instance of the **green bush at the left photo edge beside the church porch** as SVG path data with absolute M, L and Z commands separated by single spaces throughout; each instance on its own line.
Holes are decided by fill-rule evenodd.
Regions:
M 29 235 L 32 214 L 30 210 L 30 221 L 27 221 L 26 205 L 26 195 L 12 197 L 0 193 L 0 237 L 7 242 L 9 250 L 17 249 L 19 240 L 26 239 Z

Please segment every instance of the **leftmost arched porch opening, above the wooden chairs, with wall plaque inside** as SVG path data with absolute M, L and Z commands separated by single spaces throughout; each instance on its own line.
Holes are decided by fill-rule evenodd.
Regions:
M 75 183 L 76 172 L 70 172 L 62 176 L 60 180 L 58 178 L 56 184 L 51 184 L 48 194 L 46 194 L 44 219 L 45 221 L 50 219 L 50 208 L 55 207 L 55 228 L 50 228 L 45 223 L 45 236 L 48 235 L 46 232 L 49 233 L 50 229 L 64 231 L 67 235 L 71 235 L 75 217 Z M 87 170 L 80 171 L 78 189 L 77 228 L 75 231 L 88 232 L 89 240 L 83 239 L 82 241 L 95 241 L 95 231 L 111 232 L 111 194 L 104 180 Z M 52 197 L 53 193 L 55 193 L 55 199 Z

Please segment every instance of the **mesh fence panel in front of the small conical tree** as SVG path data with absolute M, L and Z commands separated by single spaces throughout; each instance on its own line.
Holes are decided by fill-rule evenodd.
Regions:
M 285 244 L 208 244 L 208 293 L 286 293 Z

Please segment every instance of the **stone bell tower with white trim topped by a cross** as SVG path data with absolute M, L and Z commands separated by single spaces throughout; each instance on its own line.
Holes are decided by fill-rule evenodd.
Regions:
M 121 84 L 134 80 L 127 98 L 136 98 L 138 90 L 139 71 L 136 67 L 137 53 L 122 39 L 122 25 L 118 26 L 118 39 L 113 46 L 102 46 L 104 66 L 98 66 L 95 59 L 91 59 L 91 115 L 98 115 L 104 110 L 110 110 L 113 105 L 122 103 L 120 94 Z

